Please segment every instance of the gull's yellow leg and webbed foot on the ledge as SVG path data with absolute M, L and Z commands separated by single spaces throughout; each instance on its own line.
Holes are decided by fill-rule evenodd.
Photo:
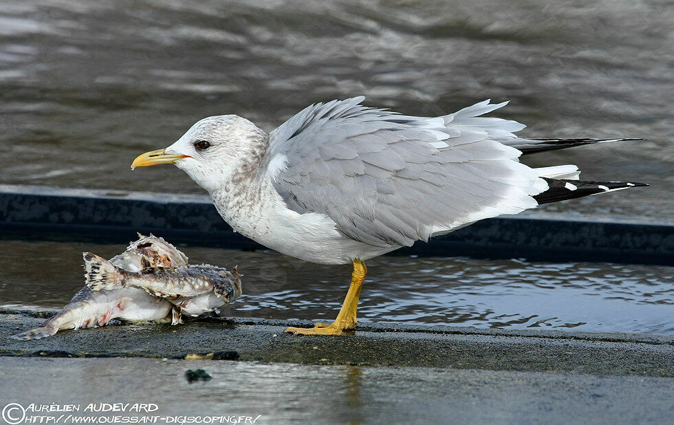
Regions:
M 351 273 L 349 292 L 347 292 L 342 308 L 333 323 L 329 325 L 316 323 L 316 326 L 312 328 L 289 327 L 285 329 L 285 332 L 295 335 L 340 335 L 346 329 L 354 329 L 356 327 L 358 298 L 360 298 L 362 283 L 365 281 L 365 274 L 367 274 L 365 263 L 358 259 L 354 260 L 354 272 Z

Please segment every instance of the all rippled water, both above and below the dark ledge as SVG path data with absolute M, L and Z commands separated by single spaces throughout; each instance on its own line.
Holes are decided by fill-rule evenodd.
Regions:
M 525 136 L 647 139 L 529 157 L 653 185 L 544 210 L 671 219 L 673 25 L 659 0 L 0 0 L 0 183 L 202 194 L 171 166 L 129 164 L 221 113 L 270 131 L 333 98 L 421 116 L 492 98 L 511 100 L 493 116 Z M 61 307 L 83 283 L 80 252 L 122 249 L 2 241 L 0 303 Z M 328 320 L 349 276 L 184 250 L 240 265 L 246 295 L 228 315 Z M 364 322 L 674 333 L 671 267 L 382 257 L 369 270 Z

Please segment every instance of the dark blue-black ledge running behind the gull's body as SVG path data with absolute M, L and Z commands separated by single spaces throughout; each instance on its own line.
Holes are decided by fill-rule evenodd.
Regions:
M 127 243 L 154 232 L 173 243 L 254 250 L 207 196 L 0 185 L 0 239 Z M 674 264 L 674 221 L 569 219 L 532 212 L 479 221 L 392 254 Z

